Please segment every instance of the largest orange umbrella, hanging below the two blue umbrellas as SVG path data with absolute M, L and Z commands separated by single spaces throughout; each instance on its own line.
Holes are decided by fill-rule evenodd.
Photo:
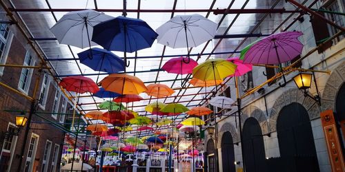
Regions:
M 147 90 L 142 80 L 128 74 L 110 74 L 99 83 L 106 91 L 118 94 L 140 94 Z

